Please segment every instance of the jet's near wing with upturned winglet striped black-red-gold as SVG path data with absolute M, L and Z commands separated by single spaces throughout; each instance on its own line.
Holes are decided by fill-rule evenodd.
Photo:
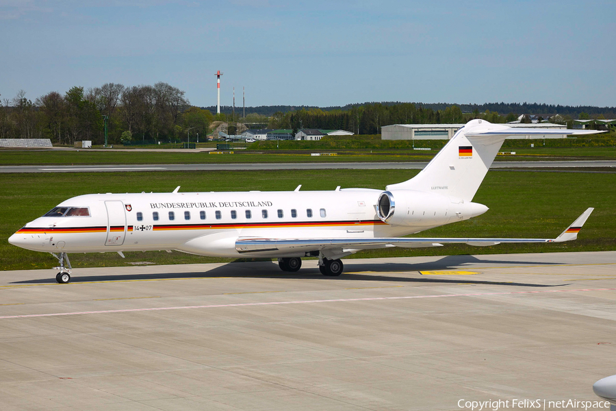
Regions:
M 235 250 L 238 253 L 257 253 L 262 256 L 281 253 L 303 253 L 317 250 L 339 250 L 352 253 L 363 249 L 387 247 L 439 247 L 444 244 L 468 244 L 475 246 L 497 245 L 501 242 L 563 242 L 575 240 L 582 225 L 593 208 L 588 208 L 556 238 L 238 238 Z

